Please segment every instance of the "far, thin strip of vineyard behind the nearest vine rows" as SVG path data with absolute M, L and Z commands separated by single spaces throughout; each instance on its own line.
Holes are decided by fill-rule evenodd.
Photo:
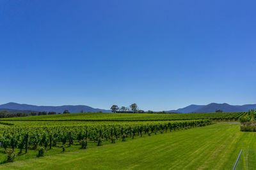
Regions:
M 40 115 L 33 117 L 3 118 L 1 120 L 86 120 L 86 121 L 147 121 L 147 120 L 238 120 L 246 112 L 230 113 L 72 113 L 61 115 Z

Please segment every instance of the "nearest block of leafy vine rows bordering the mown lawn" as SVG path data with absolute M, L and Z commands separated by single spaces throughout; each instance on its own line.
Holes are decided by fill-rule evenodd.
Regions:
M 212 124 L 211 120 L 190 120 L 183 122 L 137 122 L 126 124 L 91 124 L 91 125 L 68 125 L 68 126 L 45 126 L 45 127 L 8 127 L 1 128 L 0 142 L 2 147 L 23 149 L 36 149 L 38 146 L 51 149 L 52 146 L 73 145 L 78 143 L 81 148 L 86 148 L 89 142 L 102 145 L 102 141 L 115 143 L 116 139 L 125 141 L 134 136 L 143 136 L 152 133 L 177 131 L 192 127 L 202 127 Z

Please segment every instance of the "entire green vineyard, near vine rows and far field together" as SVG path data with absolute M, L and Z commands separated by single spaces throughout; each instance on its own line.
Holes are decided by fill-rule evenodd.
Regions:
M 0 120 L 0 162 L 56 155 L 234 121 L 246 113 L 72 113 Z

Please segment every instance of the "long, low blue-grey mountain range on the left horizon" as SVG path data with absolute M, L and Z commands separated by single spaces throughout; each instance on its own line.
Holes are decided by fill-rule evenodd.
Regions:
M 83 112 L 98 112 L 102 111 L 104 113 L 109 113 L 111 110 L 102 110 L 98 108 L 92 108 L 90 106 L 84 106 L 84 105 L 64 105 L 64 106 L 35 106 L 30 104 L 19 104 L 19 103 L 6 103 L 0 105 L 0 111 L 1 110 L 10 110 L 12 112 L 10 113 L 16 113 L 13 112 L 13 110 L 17 110 L 17 112 L 22 111 L 54 111 L 56 113 L 63 113 L 64 110 L 68 110 L 70 113 L 80 113 L 81 110 Z

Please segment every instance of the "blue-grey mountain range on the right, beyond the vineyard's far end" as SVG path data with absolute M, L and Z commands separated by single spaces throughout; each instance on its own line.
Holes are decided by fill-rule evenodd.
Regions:
M 195 105 L 191 104 L 185 108 L 180 108 L 178 110 L 169 110 L 168 113 L 212 113 L 216 110 L 222 110 L 223 112 L 239 112 L 248 111 L 251 109 L 256 109 L 256 104 L 244 104 L 244 105 L 230 105 L 227 103 L 218 104 L 211 103 L 207 105 Z

